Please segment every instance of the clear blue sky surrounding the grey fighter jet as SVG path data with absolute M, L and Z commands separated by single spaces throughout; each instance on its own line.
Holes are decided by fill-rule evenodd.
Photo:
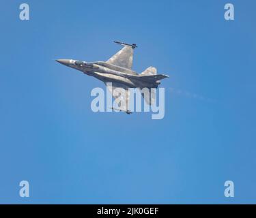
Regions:
M 255 10 L 253 0 L 2 1 L 0 203 L 256 203 Z M 170 76 L 164 119 L 91 112 L 104 84 L 54 61 L 104 61 L 113 40 L 138 44 L 135 71 Z M 30 198 L 18 196 L 22 180 Z

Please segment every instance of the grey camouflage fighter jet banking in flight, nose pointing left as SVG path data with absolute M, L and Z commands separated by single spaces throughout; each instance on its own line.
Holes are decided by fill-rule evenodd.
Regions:
M 95 61 L 95 62 L 85 62 L 73 59 L 57 59 L 56 61 L 77 69 L 88 76 L 94 76 L 98 80 L 101 80 L 105 84 L 109 82 L 112 83 L 112 87 L 106 86 L 113 97 L 117 99 L 119 94 L 115 93 L 116 88 L 122 88 L 125 90 L 124 103 L 119 102 L 119 108 L 116 109 L 126 114 L 131 114 L 132 112 L 128 109 L 129 102 L 129 88 L 147 88 L 150 92 L 142 93 L 145 102 L 149 105 L 154 104 L 156 99 L 155 89 L 160 84 L 160 80 L 168 78 L 169 76 L 164 74 L 157 74 L 155 67 L 148 67 L 141 74 L 137 74 L 132 70 L 132 60 L 133 60 L 133 50 L 137 48 L 136 44 L 127 44 L 124 42 L 114 41 L 116 44 L 124 46 L 119 52 L 113 55 L 107 61 Z

